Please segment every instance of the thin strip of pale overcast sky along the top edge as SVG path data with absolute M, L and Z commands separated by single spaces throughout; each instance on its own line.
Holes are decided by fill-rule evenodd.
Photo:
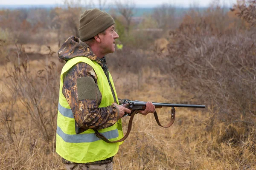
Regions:
M 68 1 L 78 1 L 78 0 L 68 0 Z M 97 4 L 98 0 L 81 0 L 82 4 L 88 4 L 92 2 Z M 102 0 L 104 1 L 104 0 Z M 121 0 L 123 1 L 123 0 Z M 163 3 L 170 3 L 174 6 L 209 6 L 213 0 L 134 0 L 138 5 L 157 5 Z M 215 0 L 219 1 L 221 4 L 226 6 L 232 6 L 236 3 L 236 0 Z M 114 0 L 107 0 L 108 3 L 113 3 Z M 64 4 L 64 0 L 0 0 L 0 5 L 44 5 L 44 4 Z

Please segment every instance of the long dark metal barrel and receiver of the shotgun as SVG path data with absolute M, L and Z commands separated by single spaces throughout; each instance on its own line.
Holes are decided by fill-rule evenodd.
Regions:
M 147 102 L 130 101 L 130 105 L 145 106 Z M 152 102 L 153 105 L 159 107 L 180 107 L 180 108 L 205 108 L 205 105 L 185 105 L 185 104 L 173 104 L 173 103 L 157 103 Z

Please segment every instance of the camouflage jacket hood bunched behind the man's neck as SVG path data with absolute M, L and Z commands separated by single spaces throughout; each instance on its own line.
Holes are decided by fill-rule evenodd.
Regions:
M 66 62 L 75 57 L 87 57 L 91 60 L 95 60 L 97 63 L 102 65 L 101 59 L 98 58 L 93 51 L 91 51 L 89 45 L 82 42 L 77 37 L 69 37 L 58 51 L 58 57 L 65 60 Z

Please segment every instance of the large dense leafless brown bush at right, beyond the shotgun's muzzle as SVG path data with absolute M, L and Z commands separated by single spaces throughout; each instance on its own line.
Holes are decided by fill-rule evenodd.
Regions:
M 255 30 L 225 31 L 209 17 L 211 13 L 199 17 L 200 22 L 183 23 L 175 32 L 169 45 L 171 71 L 184 90 L 215 108 L 219 119 L 255 125 Z

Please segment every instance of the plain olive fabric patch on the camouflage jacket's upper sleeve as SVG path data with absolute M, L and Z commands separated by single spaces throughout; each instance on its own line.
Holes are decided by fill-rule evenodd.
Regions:
M 97 100 L 98 86 L 92 77 L 81 77 L 76 80 L 78 99 Z

